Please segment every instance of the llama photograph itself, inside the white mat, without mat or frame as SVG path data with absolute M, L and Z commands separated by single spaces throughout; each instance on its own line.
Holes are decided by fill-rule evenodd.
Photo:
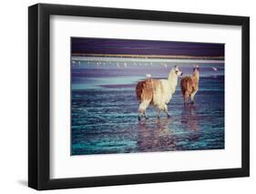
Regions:
M 225 44 L 70 37 L 71 156 L 225 148 Z

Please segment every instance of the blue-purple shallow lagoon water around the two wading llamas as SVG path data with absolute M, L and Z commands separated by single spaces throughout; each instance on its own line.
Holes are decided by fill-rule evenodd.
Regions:
M 223 64 L 200 64 L 194 105 L 184 107 L 178 84 L 170 118 L 162 113 L 158 119 L 154 107 L 148 107 L 149 119 L 138 121 L 136 84 L 146 74 L 166 78 L 172 66 L 73 65 L 71 155 L 224 148 Z M 191 75 L 192 63 L 179 66 Z

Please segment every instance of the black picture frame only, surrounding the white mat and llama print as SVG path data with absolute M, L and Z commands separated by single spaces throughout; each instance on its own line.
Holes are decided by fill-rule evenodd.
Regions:
M 241 168 L 205 169 L 102 177 L 50 179 L 50 15 L 241 26 Z M 28 186 L 69 189 L 250 175 L 250 18 L 78 5 L 37 4 L 28 8 Z M 86 176 L 86 175 L 85 175 Z

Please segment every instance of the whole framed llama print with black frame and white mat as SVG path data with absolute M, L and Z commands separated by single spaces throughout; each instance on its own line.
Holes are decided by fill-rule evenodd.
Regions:
M 28 186 L 250 174 L 250 19 L 28 8 Z

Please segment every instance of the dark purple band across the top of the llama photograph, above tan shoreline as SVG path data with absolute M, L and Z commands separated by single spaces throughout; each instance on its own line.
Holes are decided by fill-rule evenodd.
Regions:
M 224 44 L 71 38 L 72 54 L 224 56 Z

